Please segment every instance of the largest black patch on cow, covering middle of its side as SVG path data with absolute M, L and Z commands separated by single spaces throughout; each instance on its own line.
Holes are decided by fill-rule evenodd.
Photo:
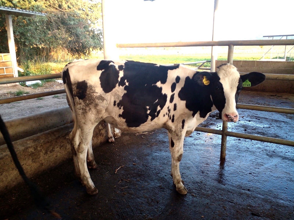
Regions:
M 123 108 L 121 117 L 125 119 L 128 127 L 139 127 L 148 120 L 149 116 L 151 121 L 157 117 L 158 107 L 163 109 L 167 94 L 162 94 L 162 88 L 157 87 L 156 83 L 166 83 L 168 70 L 178 67 L 179 65 L 157 66 L 153 63 L 125 62 L 123 76 L 118 86 L 123 86 L 126 93 L 123 94 L 118 105 Z M 147 109 L 146 106 L 149 108 Z

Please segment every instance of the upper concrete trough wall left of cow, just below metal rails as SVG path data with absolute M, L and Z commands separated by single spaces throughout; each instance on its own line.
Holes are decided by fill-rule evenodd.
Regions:
M 27 115 L 4 121 L 10 133 L 12 141 L 17 141 L 53 128 L 72 122 L 72 114 L 69 106 L 43 111 L 41 113 Z M 5 144 L 0 133 L 0 145 Z

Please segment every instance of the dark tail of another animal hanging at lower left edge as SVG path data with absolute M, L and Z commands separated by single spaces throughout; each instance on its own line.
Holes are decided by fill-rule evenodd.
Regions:
M 34 197 L 34 201 L 35 201 L 37 207 L 39 209 L 42 209 L 42 210 L 45 210 L 45 211 L 51 213 L 56 218 L 61 219 L 61 216 L 59 214 L 57 214 L 55 211 L 51 210 L 49 202 L 47 201 L 46 197 L 44 197 L 41 194 L 38 187 L 33 182 L 31 182 L 29 180 L 29 178 L 26 176 L 24 169 L 22 168 L 21 164 L 19 163 L 19 160 L 18 160 L 16 152 L 14 150 L 14 146 L 12 144 L 9 132 L 8 132 L 6 125 L 5 125 L 4 121 L 2 120 L 1 116 L 0 116 L 0 131 L 1 131 L 3 138 L 7 144 L 7 147 L 9 149 L 10 154 L 11 154 L 12 160 L 13 160 L 17 170 L 19 171 L 19 174 L 23 178 L 24 182 L 29 186 L 29 189 L 31 191 L 31 194 Z

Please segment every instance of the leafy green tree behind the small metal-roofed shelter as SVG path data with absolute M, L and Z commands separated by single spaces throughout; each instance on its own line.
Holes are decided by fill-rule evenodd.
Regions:
M 60 54 L 84 57 L 102 49 L 101 2 L 96 0 L 0 0 L 1 6 L 47 13 L 14 17 L 18 60 L 49 60 Z M 0 17 L 0 50 L 8 51 L 5 17 Z

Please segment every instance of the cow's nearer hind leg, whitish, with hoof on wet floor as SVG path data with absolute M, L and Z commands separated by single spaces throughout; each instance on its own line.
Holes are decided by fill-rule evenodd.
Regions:
M 79 128 L 72 131 L 69 138 L 71 140 L 73 160 L 76 175 L 81 180 L 82 184 L 86 186 L 88 194 L 97 194 L 98 190 L 94 186 L 87 167 L 87 151 L 91 146 L 93 130 L 96 125 L 79 126 Z M 93 152 L 90 152 L 93 155 Z M 93 160 L 94 161 L 94 160 Z M 94 162 L 95 163 L 95 162 Z M 96 164 L 96 163 L 95 163 Z

